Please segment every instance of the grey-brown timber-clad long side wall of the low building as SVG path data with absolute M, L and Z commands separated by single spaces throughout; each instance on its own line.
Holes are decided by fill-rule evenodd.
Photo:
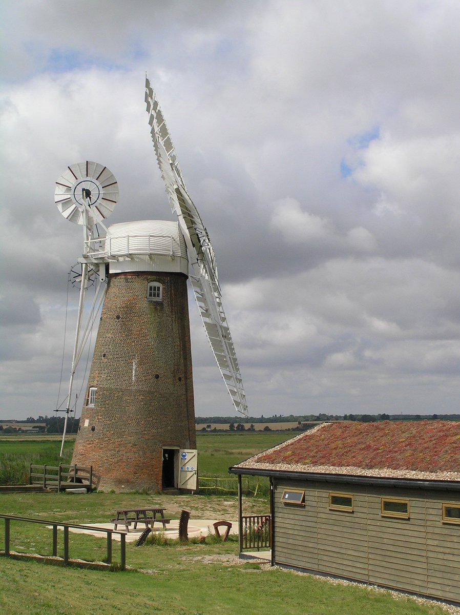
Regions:
M 305 506 L 281 501 L 305 489 Z M 330 491 L 354 494 L 354 512 L 329 510 Z M 410 518 L 382 517 L 381 498 L 410 501 Z M 277 564 L 460 601 L 460 525 L 442 523 L 458 492 L 341 483 L 277 482 Z

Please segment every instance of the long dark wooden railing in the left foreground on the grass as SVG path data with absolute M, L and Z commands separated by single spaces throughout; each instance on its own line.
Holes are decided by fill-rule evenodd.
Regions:
M 126 568 L 126 540 L 125 540 L 125 533 L 123 531 L 116 531 L 116 530 L 110 530 L 108 528 L 99 528 L 96 526 L 92 526 L 92 525 L 76 525 L 75 523 L 62 523 L 62 522 L 55 522 L 55 521 L 45 521 L 43 519 L 33 519 L 33 518 L 28 518 L 28 517 L 17 517 L 15 515 L 2 515 L 0 514 L 0 518 L 5 520 L 5 540 L 4 540 L 4 552 L 3 555 L 6 555 L 7 557 L 12 555 L 12 552 L 10 551 L 10 522 L 11 521 L 17 521 L 17 522 L 26 522 L 26 523 L 40 523 L 41 525 L 50 525 L 52 526 L 52 539 L 53 539 L 53 544 L 52 544 L 52 555 L 44 555 L 42 557 L 44 558 L 50 558 L 50 557 L 58 557 L 57 555 L 57 531 L 58 528 L 63 528 L 64 532 L 64 548 L 63 548 L 63 562 L 65 566 L 69 565 L 70 563 L 73 563 L 71 561 L 71 559 L 69 558 L 69 528 L 77 528 L 77 529 L 81 529 L 81 530 L 90 530 L 90 531 L 98 531 L 98 532 L 104 532 L 107 536 L 107 553 L 106 553 L 106 558 L 105 558 L 105 563 L 107 565 L 110 565 L 112 563 L 112 535 L 113 534 L 119 534 L 120 535 L 120 569 L 121 570 L 125 570 Z M 74 536 L 81 536 L 81 534 L 74 534 Z M 26 554 L 21 554 L 21 555 L 26 555 Z M 85 563 L 91 564 L 93 562 L 91 561 L 86 561 L 86 560 L 79 560 L 79 561 L 85 561 Z

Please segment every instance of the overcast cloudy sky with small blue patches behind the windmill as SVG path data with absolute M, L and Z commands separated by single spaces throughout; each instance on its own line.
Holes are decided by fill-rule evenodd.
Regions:
M 114 173 L 110 223 L 173 219 L 145 73 L 215 248 L 250 415 L 459 412 L 457 0 L 0 10 L 0 418 L 66 395 L 82 252 L 54 204 L 67 165 Z M 190 301 L 196 414 L 234 415 Z

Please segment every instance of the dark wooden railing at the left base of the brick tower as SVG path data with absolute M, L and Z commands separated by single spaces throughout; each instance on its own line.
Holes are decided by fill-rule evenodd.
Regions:
M 42 485 L 45 489 L 57 488 L 58 491 L 69 487 L 88 487 L 92 489 L 93 466 L 36 466 L 30 464 L 29 485 Z

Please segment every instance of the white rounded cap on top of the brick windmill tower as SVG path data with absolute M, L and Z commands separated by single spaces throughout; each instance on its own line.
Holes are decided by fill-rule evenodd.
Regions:
M 141 220 L 111 224 L 105 239 L 111 273 L 170 271 L 188 275 L 187 248 L 177 222 Z

